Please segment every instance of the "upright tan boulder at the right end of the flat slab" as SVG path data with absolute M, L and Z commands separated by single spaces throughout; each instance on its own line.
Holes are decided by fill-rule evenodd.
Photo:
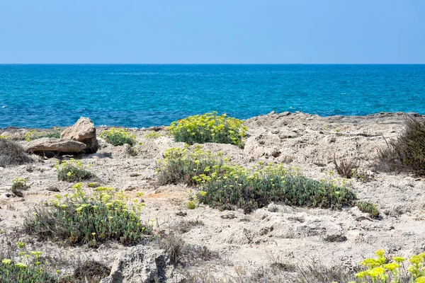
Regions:
M 98 150 L 96 127 L 94 127 L 94 123 L 89 118 L 79 118 L 72 127 L 64 129 L 60 137 L 62 139 L 81 141 L 86 144 L 86 154 L 94 154 Z

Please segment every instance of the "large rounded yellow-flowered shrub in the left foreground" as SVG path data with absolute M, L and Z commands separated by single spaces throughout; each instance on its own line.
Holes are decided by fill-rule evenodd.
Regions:
M 151 227 L 140 221 L 145 204 L 137 203 L 137 199 L 128 203 L 123 192 L 114 194 L 111 187 L 96 187 L 90 197 L 81 187 L 82 183 L 77 183 L 74 195 L 55 195 L 57 200 L 36 208 L 24 221 L 26 231 L 42 240 L 89 246 L 112 240 L 127 245 L 140 243 L 151 233 Z

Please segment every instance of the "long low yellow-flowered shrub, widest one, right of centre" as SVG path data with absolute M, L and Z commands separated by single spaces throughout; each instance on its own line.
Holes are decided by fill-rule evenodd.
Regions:
M 242 208 L 244 212 L 261 208 L 270 202 L 286 205 L 341 209 L 353 205 L 355 193 L 345 180 L 322 181 L 305 178 L 295 167 L 259 163 L 254 168 L 223 167 L 216 174 L 201 174 L 197 200 L 219 209 Z

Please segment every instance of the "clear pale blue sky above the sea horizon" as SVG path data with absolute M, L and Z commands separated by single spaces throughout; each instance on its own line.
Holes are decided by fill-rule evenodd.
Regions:
M 0 0 L 0 63 L 425 63 L 425 0 Z

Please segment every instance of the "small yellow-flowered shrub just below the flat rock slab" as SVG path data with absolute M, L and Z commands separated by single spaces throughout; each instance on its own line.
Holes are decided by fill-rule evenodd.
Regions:
M 77 182 L 96 177 L 94 173 L 86 170 L 86 166 L 81 161 L 76 161 L 74 158 L 69 159 L 69 161 L 62 161 L 55 167 L 57 169 L 57 180 L 60 181 Z

